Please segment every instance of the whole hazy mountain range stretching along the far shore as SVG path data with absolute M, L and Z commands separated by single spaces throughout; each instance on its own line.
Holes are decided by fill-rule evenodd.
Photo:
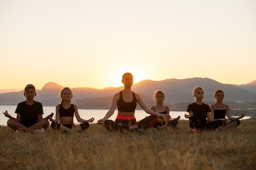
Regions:
M 154 92 L 161 90 L 165 93 L 165 104 L 167 106 L 179 106 L 179 104 L 192 103 L 195 101 L 192 91 L 196 86 L 202 86 L 205 94 L 203 101 L 213 104 L 213 93 L 217 89 L 225 91 L 225 102 L 256 102 L 256 80 L 243 85 L 222 84 L 209 78 L 188 79 L 165 79 L 162 81 L 143 80 L 133 84 L 132 91 L 139 93 L 145 104 L 150 107 L 155 104 Z M 60 93 L 64 86 L 54 82 L 46 83 L 41 90 L 36 90 L 34 100 L 41 102 L 43 106 L 56 106 L 61 102 Z M 109 109 L 112 96 L 123 89 L 123 86 L 114 88 L 72 88 L 72 103 L 79 108 L 86 109 Z M 0 105 L 17 105 L 25 101 L 23 91 L 0 94 Z M 139 107 L 139 106 L 138 106 Z M 178 109 L 177 109 L 178 110 Z

